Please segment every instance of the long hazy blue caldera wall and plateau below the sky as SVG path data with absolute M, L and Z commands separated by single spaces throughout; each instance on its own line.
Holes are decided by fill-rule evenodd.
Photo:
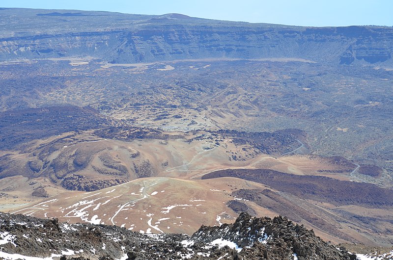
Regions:
M 2 9 L 0 59 L 90 55 L 111 63 L 196 58 L 392 62 L 393 28 L 249 24 L 169 14 Z M 22 19 L 16 19 L 19 16 Z M 15 18 L 16 17 L 16 18 Z M 25 23 L 20 25 L 18 23 Z M 28 27 L 28 24 L 31 27 Z

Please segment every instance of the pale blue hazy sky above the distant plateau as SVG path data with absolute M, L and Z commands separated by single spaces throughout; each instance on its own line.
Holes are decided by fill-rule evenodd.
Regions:
M 393 26 L 393 0 L 0 0 L 0 7 L 181 13 L 300 26 Z

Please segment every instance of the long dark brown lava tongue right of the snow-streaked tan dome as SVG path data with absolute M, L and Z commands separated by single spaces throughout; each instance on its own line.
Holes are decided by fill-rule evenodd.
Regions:
M 208 173 L 202 179 L 235 177 L 259 182 L 304 199 L 335 205 L 384 207 L 393 205 L 393 189 L 365 182 L 340 181 L 324 176 L 295 175 L 269 169 L 227 169 Z

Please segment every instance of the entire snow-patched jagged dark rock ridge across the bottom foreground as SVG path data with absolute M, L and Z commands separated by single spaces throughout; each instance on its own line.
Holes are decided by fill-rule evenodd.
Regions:
M 202 226 L 191 237 L 0 213 L 0 249 L 0 259 L 28 260 L 356 259 L 284 217 L 252 218 L 244 212 L 234 224 Z

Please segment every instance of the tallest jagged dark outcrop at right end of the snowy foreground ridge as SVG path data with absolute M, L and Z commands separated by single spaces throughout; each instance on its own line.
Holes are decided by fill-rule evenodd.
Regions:
M 241 213 L 234 224 L 201 227 L 191 239 L 212 242 L 222 239 L 244 248 L 244 259 L 347 259 L 355 260 L 345 248 L 337 248 L 315 236 L 312 230 L 294 224 L 285 217 L 252 218 Z M 241 258 L 240 258 L 241 259 Z

